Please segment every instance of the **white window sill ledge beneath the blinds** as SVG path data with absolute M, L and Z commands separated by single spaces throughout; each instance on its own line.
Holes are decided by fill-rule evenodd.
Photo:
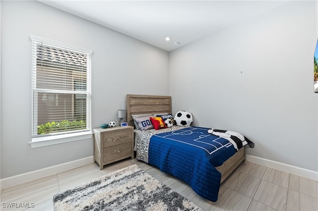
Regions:
M 72 141 L 79 141 L 83 139 L 90 139 L 92 137 L 92 132 L 85 131 L 79 133 L 46 136 L 46 137 L 36 137 L 32 138 L 32 142 L 29 142 L 31 148 L 45 147 L 54 144 L 62 144 Z

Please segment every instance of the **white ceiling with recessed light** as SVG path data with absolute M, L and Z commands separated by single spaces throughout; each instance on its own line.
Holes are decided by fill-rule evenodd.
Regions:
M 38 1 L 169 52 L 287 0 Z

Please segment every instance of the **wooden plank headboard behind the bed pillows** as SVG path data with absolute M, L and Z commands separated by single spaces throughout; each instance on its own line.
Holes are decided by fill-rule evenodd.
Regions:
M 172 113 L 170 96 L 127 95 L 127 123 L 134 126 L 132 114 L 140 113 Z

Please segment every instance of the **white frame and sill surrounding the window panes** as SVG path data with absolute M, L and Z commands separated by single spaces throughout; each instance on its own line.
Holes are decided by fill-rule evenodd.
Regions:
M 31 42 L 32 42 L 32 66 L 31 66 L 31 74 L 32 74 L 32 84 L 31 84 L 31 90 L 32 90 L 32 116 L 31 116 L 31 123 L 32 123 L 32 129 L 31 129 L 31 142 L 29 144 L 31 145 L 31 148 L 37 148 L 37 147 L 43 147 L 43 146 L 49 146 L 54 144 L 60 144 L 60 143 L 66 143 L 66 142 L 72 142 L 72 141 L 79 141 L 83 139 L 90 139 L 92 138 L 92 124 L 91 124 L 91 54 L 93 53 L 91 50 L 86 50 L 74 46 L 69 46 L 62 43 L 57 43 L 55 41 L 51 41 L 45 38 L 37 37 L 37 36 L 30 36 Z M 38 111 L 38 102 L 35 99 L 38 99 L 38 93 L 44 92 L 44 93 L 61 93 L 61 94 L 75 94 L 74 91 L 69 90 L 49 90 L 49 89 L 39 89 L 36 88 L 36 78 L 34 78 L 34 74 L 37 72 L 37 55 L 36 51 L 34 51 L 34 46 L 36 46 L 36 43 L 45 43 L 45 45 L 57 48 L 61 47 L 61 49 L 67 49 L 69 51 L 83 53 L 88 56 L 89 62 L 87 62 L 87 69 L 86 69 L 86 77 L 88 78 L 86 82 L 86 91 L 76 91 L 76 94 L 85 94 L 86 95 L 86 123 L 87 123 L 87 129 L 85 130 L 75 130 L 72 132 L 62 132 L 62 133 L 52 133 L 52 134 L 46 134 L 44 136 L 35 135 L 35 131 L 37 131 L 37 118 L 34 118 L 34 114 L 37 114 Z M 72 77 L 73 78 L 73 77 Z M 78 78 L 77 78 L 78 79 Z M 75 79 L 76 80 L 76 79 Z M 74 80 L 74 82 L 75 82 Z M 75 97 L 74 97 L 75 98 Z M 74 106 L 74 105 L 72 105 Z

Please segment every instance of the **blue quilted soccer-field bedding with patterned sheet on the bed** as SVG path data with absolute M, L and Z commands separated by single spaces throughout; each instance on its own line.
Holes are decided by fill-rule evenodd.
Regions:
M 136 138 L 137 159 L 183 180 L 198 195 L 215 202 L 221 182 L 221 173 L 215 167 L 239 149 L 228 139 L 208 133 L 208 130 L 174 126 L 141 131 Z M 248 143 L 241 146 L 245 144 Z

